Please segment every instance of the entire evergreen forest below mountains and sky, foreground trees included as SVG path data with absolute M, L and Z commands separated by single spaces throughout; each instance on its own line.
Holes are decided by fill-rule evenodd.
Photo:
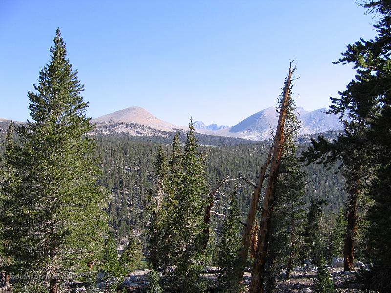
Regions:
M 0 292 L 391 292 L 391 2 L 360 5 L 343 130 L 298 134 L 291 62 L 264 141 L 95 131 L 57 29 L 31 121 L 0 122 Z

